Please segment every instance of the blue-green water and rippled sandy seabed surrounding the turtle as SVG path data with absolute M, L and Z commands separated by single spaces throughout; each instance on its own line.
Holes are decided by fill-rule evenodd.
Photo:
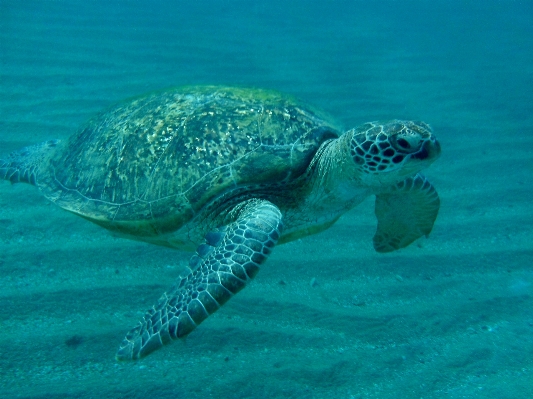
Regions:
M 192 3 L 0 0 L 0 157 L 144 92 L 266 87 L 346 128 L 431 124 L 434 231 L 378 255 L 366 201 L 185 342 L 117 363 L 188 254 L 0 182 L 0 397 L 533 397 L 533 2 Z

